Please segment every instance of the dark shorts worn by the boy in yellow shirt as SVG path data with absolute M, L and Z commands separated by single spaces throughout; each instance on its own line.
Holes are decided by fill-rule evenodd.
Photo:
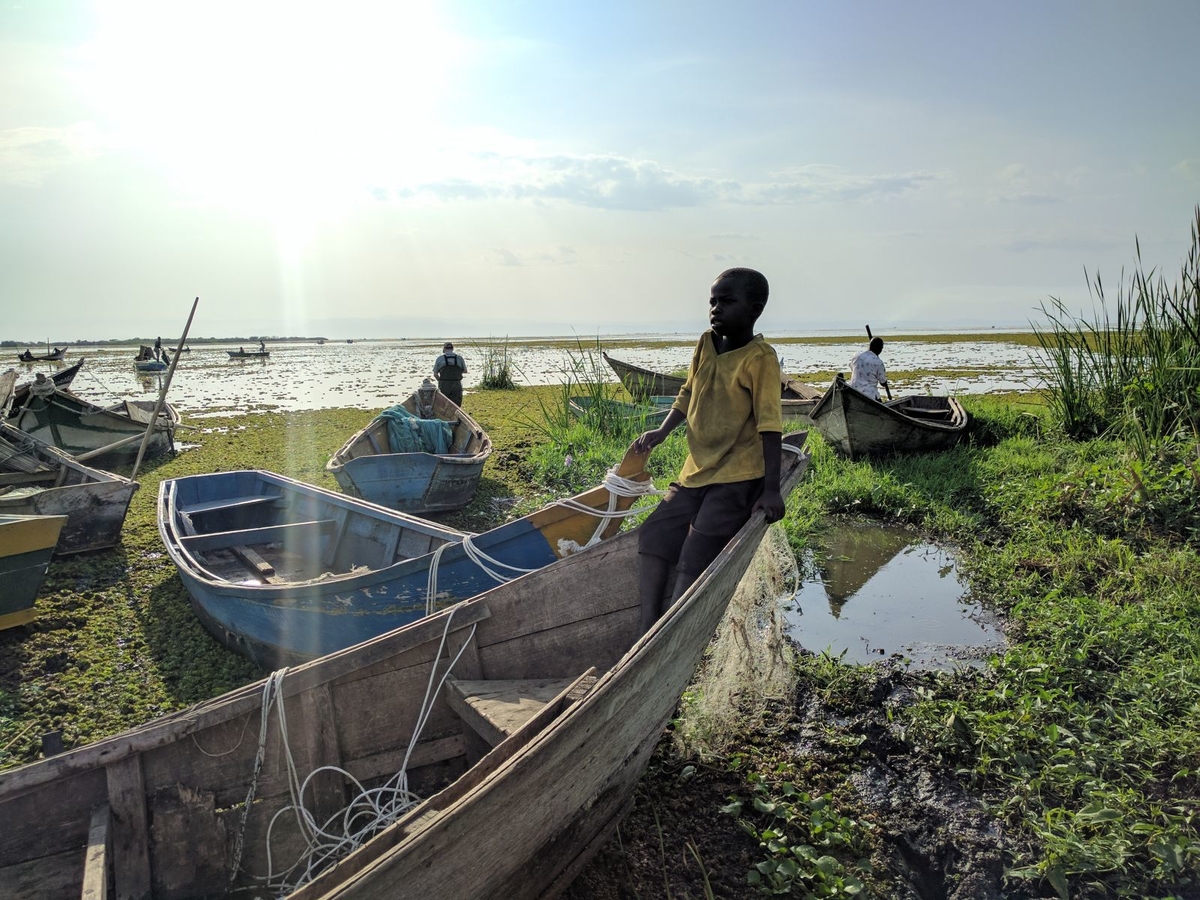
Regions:
M 750 518 L 754 504 L 762 496 L 762 484 L 761 478 L 703 487 L 672 482 L 666 497 L 637 529 L 637 551 L 676 563 L 690 528 L 708 539 L 706 542 L 718 545 L 720 552 Z

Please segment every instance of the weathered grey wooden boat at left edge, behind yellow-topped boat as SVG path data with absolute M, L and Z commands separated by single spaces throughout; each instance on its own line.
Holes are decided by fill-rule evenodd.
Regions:
M 94 469 L 11 425 L 0 424 L 0 514 L 66 516 L 55 553 L 121 540 L 137 481 Z

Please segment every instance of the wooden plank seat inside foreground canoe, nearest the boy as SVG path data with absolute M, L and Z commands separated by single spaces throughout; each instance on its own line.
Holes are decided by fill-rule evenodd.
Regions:
M 594 671 L 588 670 L 578 678 L 528 680 L 458 680 L 451 676 L 446 679 L 444 696 L 450 708 L 488 746 L 496 746 L 547 707 L 553 708 L 552 718 L 582 698 L 596 682 Z

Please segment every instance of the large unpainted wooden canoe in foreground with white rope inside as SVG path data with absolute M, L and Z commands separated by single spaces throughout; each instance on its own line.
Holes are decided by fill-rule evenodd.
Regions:
M 785 455 L 785 496 L 806 462 Z M 13 900 L 103 896 L 109 883 L 115 896 L 157 900 L 553 898 L 629 808 L 764 528 L 755 514 L 644 636 L 634 530 L 366 643 L 0 772 L 0 884 Z M 332 833 L 350 818 L 365 840 L 331 868 L 313 863 L 299 888 L 289 762 L 308 821 Z M 391 788 L 372 798 L 378 821 L 343 815 L 374 787 Z M 294 863 L 287 886 L 260 881 Z

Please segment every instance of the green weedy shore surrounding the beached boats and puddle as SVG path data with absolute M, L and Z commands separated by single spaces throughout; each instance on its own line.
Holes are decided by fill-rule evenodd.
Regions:
M 468 395 L 497 450 L 444 521 L 486 528 L 508 514 L 497 500 L 560 496 L 619 457 L 620 438 L 545 428 L 558 394 Z M 950 674 L 799 653 L 794 694 L 732 743 L 707 742 L 685 704 L 571 900 L 1200 895 L 1194 455 L 1147 479 L 1123 444 L 1055 437 L 1028 397 L 967 407 L 967 443 L 943 454 L 852 463 L 814 439 L 785 527 L 796 547 L 856 516 L 955 542 L 1009 649 Z M 46 733 L 77 746 L 262 677 L 192 614 L 158 482 L 266 468 L 336 490 L 325 461 L 370 418 L 197 420 L 193 449 L 139 475 L 121 547 L 55 560 L 35 623 L 0 632 L 0 767 L 38 758 Z

